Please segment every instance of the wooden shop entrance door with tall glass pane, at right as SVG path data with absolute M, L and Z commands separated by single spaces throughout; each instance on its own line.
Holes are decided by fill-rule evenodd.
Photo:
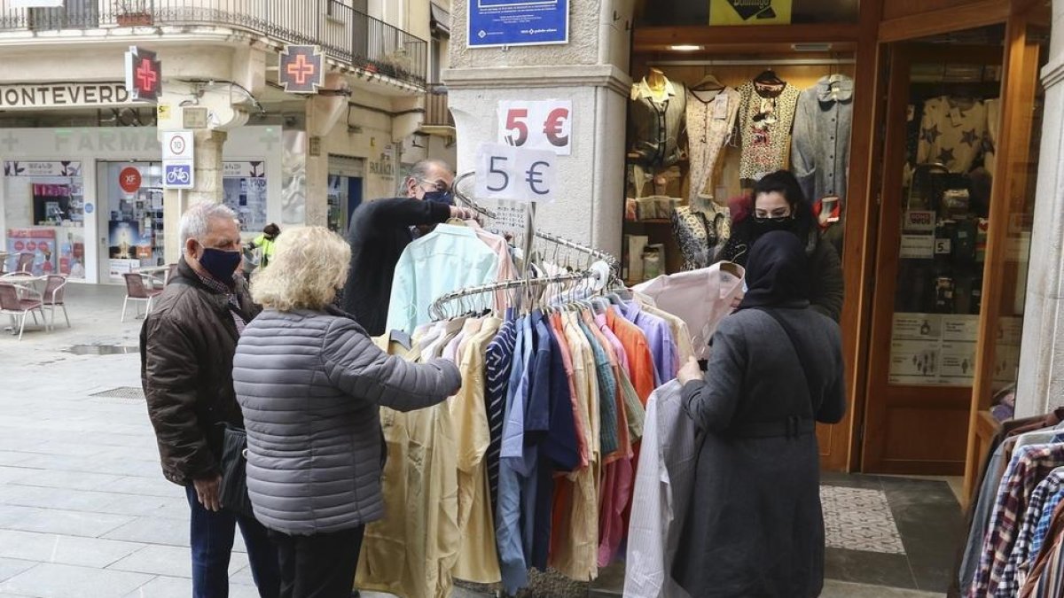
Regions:
M 1014 392 L 1046 43 L 1014 19 L 886 48 L 864 471 L 963 474 Z

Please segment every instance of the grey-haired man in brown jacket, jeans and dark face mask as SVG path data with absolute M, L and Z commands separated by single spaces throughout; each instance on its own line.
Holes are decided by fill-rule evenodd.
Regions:
M 277 551 L 261 524 L 219 500 L 223 426 L 243 427 L 233 392 L 233 355 L 257 314 L 240 263 L 236 215 L 214 203 L 181 218 L 183 256 L 140 331 L 140 379 L 155 428 L 163 475 L 185 487 L 192 509 L 193 595 L 229 594 L 236 527 L 248 548 L 259 594 L 279 595 Z

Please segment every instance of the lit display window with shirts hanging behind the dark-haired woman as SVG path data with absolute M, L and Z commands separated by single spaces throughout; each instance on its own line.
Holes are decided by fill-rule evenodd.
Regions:
M 771 68 L 766 68 L 771 65 Z M 622 275 L 630 283 L 728 260 L 755 236 L 738 214 L 763 176 L 789 170 L 815 216 L 800 234 L 843 250 L 852 57 L 755 55 L 649 63 L 629 103 Z M 745 206 L 745 207 L 744 207 Z

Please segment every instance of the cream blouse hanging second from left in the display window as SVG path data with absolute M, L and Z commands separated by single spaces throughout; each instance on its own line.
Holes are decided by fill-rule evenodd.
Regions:
M 742 97 L 731 87 L 696 92 L 687 89 L 687 146 L 691 156 L 688 202 L 697 205 L 716 171 L 720 150 L 731 138 Z M 713 197 L 715 189 L 711 189 Z

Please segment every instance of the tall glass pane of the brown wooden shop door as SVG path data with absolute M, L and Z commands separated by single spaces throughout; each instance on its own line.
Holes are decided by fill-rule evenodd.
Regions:
M 970 386 L 998 165 L 1000 65 L 914 63 L 890 383 Z M 1019 327 L 1000 343 L 1019 345 Z

